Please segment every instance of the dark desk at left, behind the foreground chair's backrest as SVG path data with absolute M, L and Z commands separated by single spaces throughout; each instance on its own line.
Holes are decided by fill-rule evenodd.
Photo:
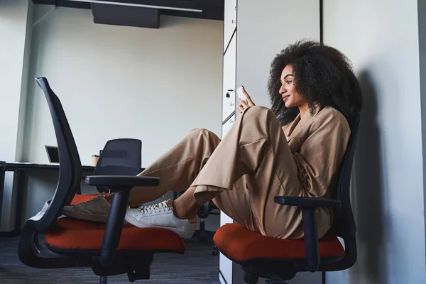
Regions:
M 24 192 L 25 192 L 25 181 L 26 172 L 28 171 L 59 171 L 59 165 L 55 164 L 38 164 L 38 163 L 6 163 L 0 162 L 0 222 L 1 222 L 1 207 L 3 206 L 3 191 L 4 191 L 4 174 L 6 172 L 15 172 L 17 175 L 18 185 L 18 196 L 16 197 L 16 208 L 15 208 L 15 231 L 21 231 L 22 228 L 22 212 L 24 206 Z M 87 175 L 93 175 L 94 167 L 91 165 L 82 166 L 82 178 Z

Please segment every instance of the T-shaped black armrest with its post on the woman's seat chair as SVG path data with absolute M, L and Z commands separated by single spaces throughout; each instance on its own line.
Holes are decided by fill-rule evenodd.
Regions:
M 342 202 L 320 197 L 275 196 L 274 202 L 297 206 L 302 209 L 302 225 L 305 240 L 306 269 L 315 272 L 320 266 L 320 245 L 318 244 L 317 208 L 340 207 Z

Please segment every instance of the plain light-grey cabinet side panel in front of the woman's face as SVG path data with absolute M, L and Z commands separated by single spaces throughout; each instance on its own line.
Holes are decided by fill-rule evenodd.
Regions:
M 236 86 L 243 84 L 256 105 L 271 107 L 271 62 L 296 40 L 320 40 L 320 1 L 240 0 L 237 22 Z

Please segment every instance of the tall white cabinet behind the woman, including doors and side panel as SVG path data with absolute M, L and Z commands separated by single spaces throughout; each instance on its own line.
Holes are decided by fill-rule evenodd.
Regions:
M 320 40 L 318 0 L 225 0 L 224 9 L 222 138 L 239 116 L 236 87 L 244 85 L 256 105 L 271 107 L 267 86 L 275 55 L 297 40 Z M 221 226 L 232 222 L 221 212 Z M 219 270 L 222 284 L 244 283 L 241 267 L 222 253 Z

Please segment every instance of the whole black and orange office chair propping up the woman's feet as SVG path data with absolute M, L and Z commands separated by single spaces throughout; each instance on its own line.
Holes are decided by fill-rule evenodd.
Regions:
M 75 197 L 82 179 L 82 165 L 60 100 L 45 78 L 36 78 L 48 101 L 58 142 L 60 173 L 55 195 L 45 214 L 28 219 L 18 244 L 19 260 L 34 268 L 89 266 L 107 283 L 107 276 L 126 273 L 129 281 L 150 278 L 154 253 L 185 253 L 178 234 L 168 229 L 137 228 L 124 224 L 129 194 L 135 186 L 158 185 L 158 178 L 88 176 L 86 182 L 107 186 L 114 192 L 107 224 L 60 218 L 62 207 Z M 136 170 L 136 169 L 135 169 Z M 45 246 L 38 236 L 45 235 Z M 64 281 L 66 281 L 64 279 Z

